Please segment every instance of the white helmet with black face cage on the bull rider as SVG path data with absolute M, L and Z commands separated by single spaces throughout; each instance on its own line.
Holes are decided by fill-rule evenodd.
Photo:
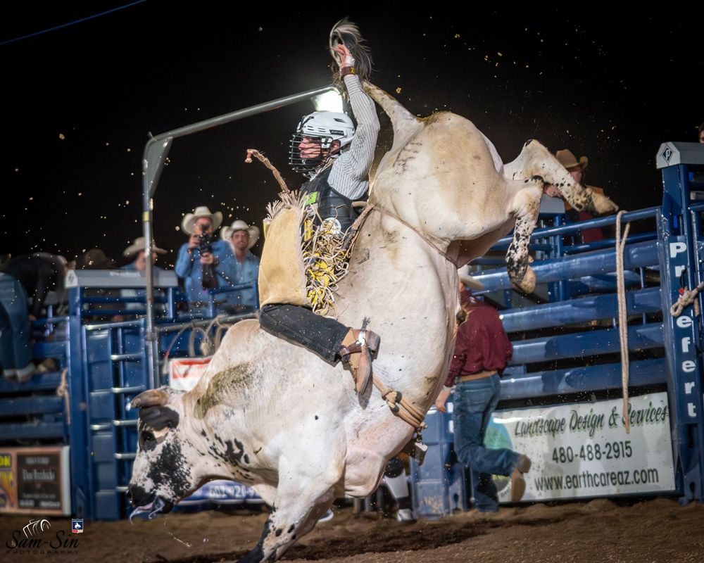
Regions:
M 351 143 L 353 134 L 353 122 L 344 113 L 315 111 L 304 115 L 289 143 L 289 165 L 294 172 L 309 174 L 327 163 L 329 158 L 337 155 L 338 151 L 330 153 L 330 148 L 335 141 L 339 142 L 341 149 Z M 304 139 L 320 144 L 320 153 L 314 158 L 301 156 L 300 146 Z

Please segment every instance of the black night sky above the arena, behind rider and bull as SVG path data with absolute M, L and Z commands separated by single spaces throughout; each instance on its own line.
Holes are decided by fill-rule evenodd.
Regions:
M 345 15 L 372 49 L 372 80 L 413 113 L 464 115 L 505 161 L 532 138 L 589 156 L 586 181 L 627 209 L 660 203 L 655 151 L 696 141 L 704 120 L 702 8 L 626 18 L 577 4 L 541 13 L 428 4 L 400 17 L 401 4 L 396 13 L 351 3 L 282 13 L 147 0 L 13 41 L 129 2 L 46 4 L 6 15 L 0 28 L 0 253 L 74 258 L 99 247 L 120 258 L 142 232 L 147 133 L 328 84 L 327 35 Z M 156 241 L 174 252 L 162 265 L 196 205 L 260 224 L 277 186 L 263 166 L 244 163 L 246 148 L 298 186 L 287 146 L 310 110 L 300 103 L 175 141 L 155 198 Z

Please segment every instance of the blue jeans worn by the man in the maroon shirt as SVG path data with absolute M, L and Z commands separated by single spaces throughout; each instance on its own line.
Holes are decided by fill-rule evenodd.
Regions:
M 481 512 L 498 510 L 496 485 L 491 476 L 509 476 L 520 457 L 508 448 L 484 447 L 484 435 L 498 405 L 500 390 L 501 379 L 495 374 L 458 383 L 453 398 L 455 452 L 463 464 L 472 468 L 474 506 Z

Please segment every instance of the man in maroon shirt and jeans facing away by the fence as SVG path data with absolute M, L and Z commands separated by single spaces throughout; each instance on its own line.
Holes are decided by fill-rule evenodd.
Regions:
M 460 276 L 460 279 L 462 277 Z M 467 314 L 455 340 L 455 355 L 436 407 L 445 412 L 445 403 L 455 385 L 453 417 L 455 452 L 472 468 L 474 505 L 480 512 L 496 512 L 498 496 L 492 475 L 511 476 L 511 500 L 518 502 L 525 492 L 523 474 L 530 459 L 508 448 L 484 447 L 484 435 L 501 394 L 500 375 L 513 354 L 508 336 L 496 309 L 472 296 L 460 283 L 460 306 Z

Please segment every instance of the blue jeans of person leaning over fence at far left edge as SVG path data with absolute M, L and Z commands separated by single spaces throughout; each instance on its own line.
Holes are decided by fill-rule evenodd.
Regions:
M 27 294 L 17 279 L 0 273 L 0 362 L 4 369 L 21 369 L 31 361 Z

